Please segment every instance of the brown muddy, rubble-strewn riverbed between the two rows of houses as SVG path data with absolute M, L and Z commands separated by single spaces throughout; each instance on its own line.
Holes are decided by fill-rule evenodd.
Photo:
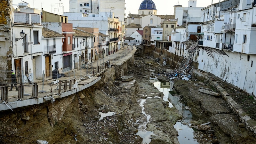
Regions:
M 151 117 L 147 131 L 151 135 L 150 144 L 178 144 L 178 132 L 173 128 L 182 116 L 176 108 L 169 108 L 159 92 L 149 81 L 154 73 L 162 73 L 169 66 L 161 66 L 148 57 L 135 57 L 135 64 L 129 65 L 126 75 L 134 75 L 130 82 L 110 79 L 108 84 L 95 84 L 90 89 L 76 95 L 61 120 L 52 128 L 48 122 L 47 109 L 38 112 L 27 122 L 21 123 L 17 133 L 0 137 L 1 143 L 36 143 L 46 140 L 49 143 L 65 144 L 127 144 L 143 143 L 136 135 L 136 120 L 145 122 L 146 116 L 141 113 L 138 102 L 147 99 L 144 104 L 146 114 Z M 165 76 L 159 75 L 165 79 Z M 222 98 L 198 92 L 199 87 L 213 89 L 207 81 L 175 80 L 175 90 L 195 115 L 192 122 L 203 124 L 211 122 L 212 131 L 197 131 L 195 138 L 199 143 L 255 143 L 255 137 L 239 123 L 237 116 Z M 228 89 L 228 88 L 227 88 Z M 233 91 L 229 91 L 231 93 Z M 237 94 L 237 92 L 234 92 Z M 240 94 L 240 93 L 239 93 Z M 149 98 L 151 97 L 151 98 Z M 161 97 L 161 99 L 153 99 Z M 113 116 L 99 120 L 99 113 L 115 112 Z M 193 126 L 192 124 L 192 126 Z

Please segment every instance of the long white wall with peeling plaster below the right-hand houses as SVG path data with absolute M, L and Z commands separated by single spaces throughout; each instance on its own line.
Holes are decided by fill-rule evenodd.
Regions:
M 225 53 L 228 56 L 212 52 L 213 57 L 211 57 L 208 56 L 205 50 L 201 49 L 198 68 L 220 77 L 247 93 L 255 94 L 256 70 L 253 61 L 256 61 L 256 56 L 250 55 L 248 61 L 247 54 L 227 51 Z

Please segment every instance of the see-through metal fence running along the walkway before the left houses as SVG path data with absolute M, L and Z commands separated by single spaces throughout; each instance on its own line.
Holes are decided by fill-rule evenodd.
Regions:
M 35 73 L 28 73 L 28 71 L 17 71 L 16 82 L 12 81 L 11 70 L 0 70 L 0 90 L 1 90 L 1 100 L 8 100 L 11 98 L 23 99 L 34 97 L 37 98 L 38 93 L 46 93 L 44 95 L 49 95 L 55 91 L 55 93 L 62 93 L 72 89 L 73 84 L 76 79 L 82 79 L 88 77 L 89 75 L 94 76 L 94 73 L 100 72 L 104 68 L 110 66 L 111 62 L 122 59 L 124 56 L 132 50 L 129 47 L 126 50 L 116 52 L 114 54 L 105 56 L 92 63 L 87 63 L 82 68 L 77 69 L 66 69 L 63 73 L 62 69 L 54 69 L 48 71 L 38 71 Z M 16 84 L 16 85 L 15 85 Z M 17 90 L 16 91 L 16 86 Z M 12 91 L 10 91 L 12 88 Z

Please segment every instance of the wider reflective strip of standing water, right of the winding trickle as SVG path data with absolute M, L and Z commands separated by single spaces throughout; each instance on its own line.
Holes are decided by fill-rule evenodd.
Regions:
M 190 120 L 192 119 L 192 114 L 189 111 L 189 108 L 186 107 L 184 103 L 181 102 L 180 97 L 172 96 L 173 92 L 173 81 L 169 82 L 159 82 L 156 79 L 150 80 L 154 86 L 160 91 L 164 93 L 163 100 L 169 101 L 169 107 L 172 108 L 173 106 L 179 110 L 179 113 L 182 114 L 181 122 L 176 122 L 174 128 L 179 133 L 178 141 L 180 144 L 198 144 L 196 139 L 194 139 L 193 133 L 194 130 L 189 127 Z M 172 93 L 172 94 L 171 94 Z

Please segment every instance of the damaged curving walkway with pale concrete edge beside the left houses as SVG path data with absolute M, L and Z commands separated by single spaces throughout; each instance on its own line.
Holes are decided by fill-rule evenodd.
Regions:
M 7 101 L 0 100 L 0 111 L 39 104 L 47 100 L 65 97 L 84 90 L 101 79 L 99 75 L 104 69 L 111 65 L 122 65 L 125 61 L 129 60 L 135 52 L 136 48 L 134 46 L 124 47 L 105 58 L 85 65 L 84 68 L 65 72 L 65 76 L 60 78 L 46 78 L 44 81 L 37 80 L 38 93 L 36 96 L 33 95 L 34 83 L 28 83 L 24 86 L 24 96 L 22 99 L 18 97 L 19 92 L 12 91 L 11 93 L 8 93 Z

